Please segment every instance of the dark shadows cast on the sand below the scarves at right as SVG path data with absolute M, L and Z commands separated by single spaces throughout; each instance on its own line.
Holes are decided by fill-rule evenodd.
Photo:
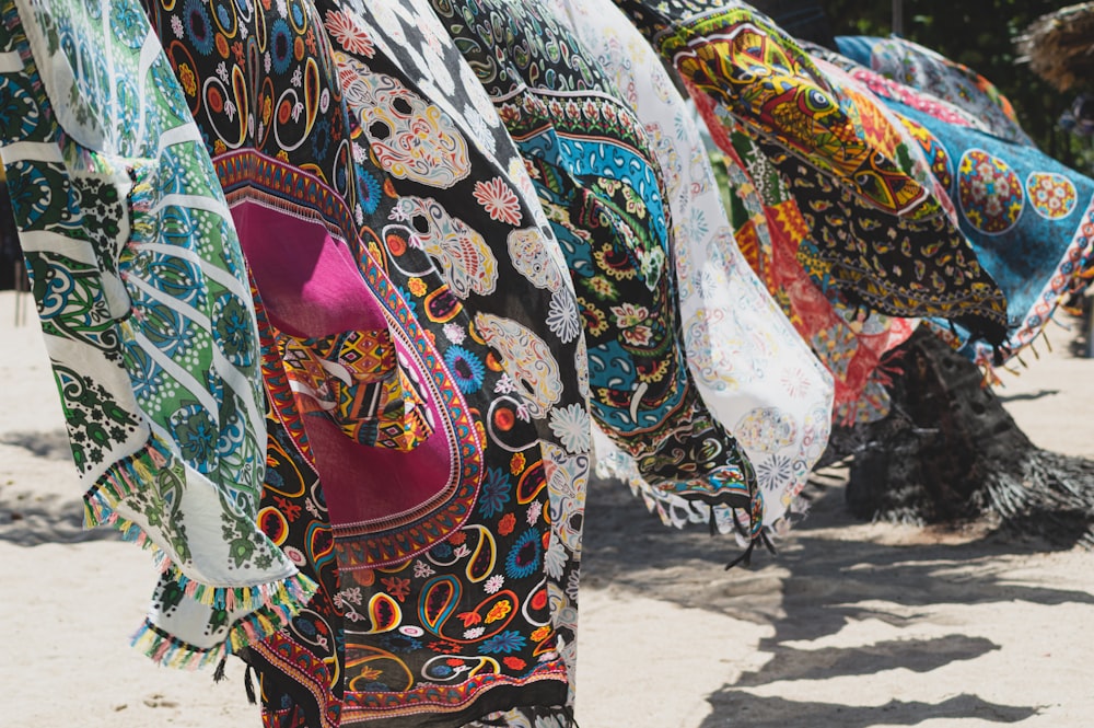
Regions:
M 801 703 L 742 690 L 900 668 L 930 672 L 999 649 L 989 639 L 959 634 L 853 648 L 800 649 L 793 645 L 835 635 L 850 622 L 880 620 L 909 626 L 929 619 L 930 606 L 942 603 L 1094 603 L 1094 597 L 1084 591 L 1014 583 L 999 565 L 1001 556 L 1051 548 L 1045 543 L 999 533 L 964 543 L 915 545 L 850 540 L 840 538 L 840 529 L 858 522 L 843 507 L 843 488 L 811 486 L 811 493 L 810 518 L 782 541 L 777 557 L 759 554 L 752 569 L 725 571 L 724 564 L 737 553 L 732 539 L 711 539 L 701 527 L 667 529 L 643 512 L 626 486 L 596 479 L 590 485 L 585 512 L 582 585 L 610 583 L 651 599 L 773 627 L 775 634 L 758 646 L 771 659 L 711 694 L 713 712 L 702 728 L 857 728 L 904 725 L 904 715 L 916 716 L 907 725 L 948 717 L 1014 723 L 1038 713 L 1038 706 L 998 705 L 971 694 L 938 704 L 894 698 L 886 705 L 863 707 L 841 705 L 838 696 L 833 703 Z M 974 568 L 965 568 L 970 565 Z M 906 713 L 906 708 L 915 712 Z

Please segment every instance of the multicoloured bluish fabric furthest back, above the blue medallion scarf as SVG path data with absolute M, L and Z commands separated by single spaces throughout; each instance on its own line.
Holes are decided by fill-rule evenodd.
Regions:
M 926 92 L 981 120 L 984 130 L 1033 147 L 1010 100 L 973 69 L 906 38 L 865 35 L 836 37 L 836 48 L 886 79 Z M 978 125 L 978 126 L 981 126 Z

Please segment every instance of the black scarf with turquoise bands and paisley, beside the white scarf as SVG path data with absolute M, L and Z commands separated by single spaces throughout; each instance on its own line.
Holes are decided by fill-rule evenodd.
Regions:
M 596 423 L 652 487 L 700 512 L 743 509 L 758 538 L 753 469 L 700 398 L 677 339 L 671 220 L 641 123 L 543 7 L 432 4 L 524 155 L 566 255 Z

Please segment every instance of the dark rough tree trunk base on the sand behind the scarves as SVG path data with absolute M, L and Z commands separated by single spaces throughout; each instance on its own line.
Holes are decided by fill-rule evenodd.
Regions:
M 834 434 L 829 462 L 852 455 L 851 511 L 868 519 L 1008 528 L 1094 545 L 1094 462 L 1041 450 L 980 371 L 920 328 L 900 349 L 893 413 Z

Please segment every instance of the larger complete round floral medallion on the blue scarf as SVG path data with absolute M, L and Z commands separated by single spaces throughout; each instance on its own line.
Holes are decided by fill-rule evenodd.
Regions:
M 957 198 L 978 231 L 998 235 L 1014 227 L 1025 195 L 1010 164 L 982 149 L 969 149 L 957 165 Z

